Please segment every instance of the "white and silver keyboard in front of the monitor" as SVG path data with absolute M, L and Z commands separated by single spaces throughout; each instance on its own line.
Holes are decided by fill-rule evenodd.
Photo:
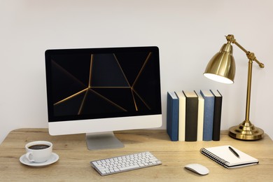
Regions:
M 91 166 L 102 176 L 127 172 L 134 169 L 161 165 L 162 162 L 155 158 L 150 152 L 134 153 L 132 155 L 123 155 L 115 158 L 103 160 L 94 160 L 90 162 Z

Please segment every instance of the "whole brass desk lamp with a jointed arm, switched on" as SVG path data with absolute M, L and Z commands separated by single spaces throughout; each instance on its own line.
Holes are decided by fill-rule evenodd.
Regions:
M 263 137 L 263 130 L 258 127 L 254 127 L 249 120 L 250 111 L 250 99 L 251 99 L 251 76 L 252 76 L 252 63 L 256 62 L 260 68 L 264 68 L 264 64 L 259 62 L 253 52 L 249 52 L 244 49 L 233 35 L 226 36 L 228 43 L 225 43 L 220 52 L 216 53 L 211 58 L 204 76 L 211 80 L 216 80 L 221 83 L 234 83 L 235 78 L 235 59 L 232 56 L 233 48 L 231 43 L 235 43 L 241 50 L 246 52 L 248 57 L 248 80 L 247 80 L 247 92 L 246 92 L 246 119 L 238 126 L 230 127 L 229 135 L 235 139 L 241 140 L 258 140 Z

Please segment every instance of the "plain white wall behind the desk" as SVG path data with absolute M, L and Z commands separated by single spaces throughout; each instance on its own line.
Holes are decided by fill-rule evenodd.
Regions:
M 209 59 L 235 38 L 265 64 L 253 64 L 251 121 L 273 137 L 273 1 L 0 0 L 0 143 L 11 130 L 47 127 L 44 51 L 157 45 L 166 92 L 218 89 L 222 130 L 244 120 L 248 60 L 234 46 L 235 84 L 202 76 Z

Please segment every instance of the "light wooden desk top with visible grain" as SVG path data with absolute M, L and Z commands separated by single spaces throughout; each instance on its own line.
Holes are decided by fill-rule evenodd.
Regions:
M 239 141 L 221 133 L 221 141 L 173 142 L 165 130 L 132 130 L 116 132 L 125 148 L 88 151 L 85 134 L 52 137 L 47 129 L 20 129 L 8 134 L 0 146 L 0 181 L 272 181 L 273 141 L 265 134 L 259 141 Z M 59 160 L 46 167 L 28 167 L 19 161 L 29 141 L 47 140 Z M 225 169 L 200 153 L 200 148 L 232 145 L 260 160 L 259 165 Z M 91 160 L 151 151 L 162 165 L 131 172 L 100 176 Z M 190 163 L 209 168 L 207 176 L 184 169 Z

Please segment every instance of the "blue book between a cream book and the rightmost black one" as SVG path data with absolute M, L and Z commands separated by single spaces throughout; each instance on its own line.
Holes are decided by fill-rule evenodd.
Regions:
M 211 141 L 214 129 L 214 94 L 209 90 L 200 90 L 204 98 L 203 140 Z

